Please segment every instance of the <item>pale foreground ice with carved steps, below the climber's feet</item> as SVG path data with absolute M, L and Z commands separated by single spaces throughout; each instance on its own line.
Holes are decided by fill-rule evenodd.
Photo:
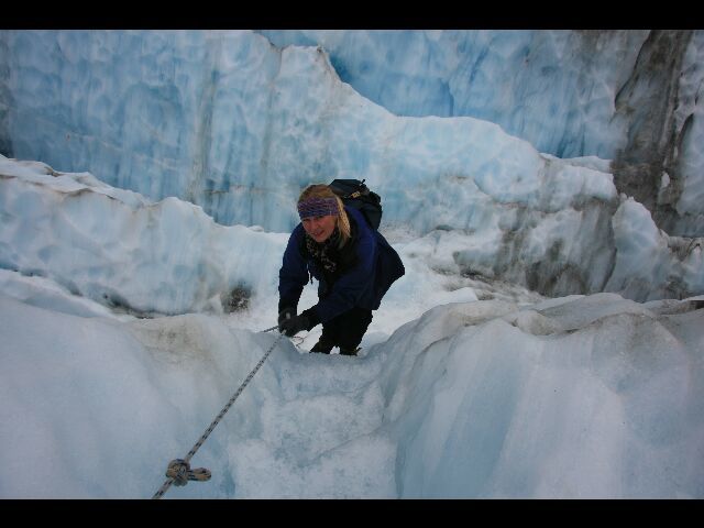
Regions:
M 702 498 L 702 302 L 450 302 L 345 358 L 0 293 L 0 496 L 151 497 L 276 344 L 166 498 Z

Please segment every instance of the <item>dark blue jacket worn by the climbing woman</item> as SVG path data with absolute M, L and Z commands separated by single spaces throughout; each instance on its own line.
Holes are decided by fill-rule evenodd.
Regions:
M 356 209 L 345 206 L 344 210 L 352 227 L 352 238 L 344 248 L 346 266 L 342 266 L 332 284 L 328 284 L 330 277 L 305 249 L 302 223 L 294 229 L 278 272 L 279 311 L 286 307 L 297 308 L 310 276 L 319 282 L 318 304 L 306 310 L 312 316 L 314 326 L 353 307 L 376 310 L 391 285 L 406 273 L 398 253 L 382 233 L 372 229 Z

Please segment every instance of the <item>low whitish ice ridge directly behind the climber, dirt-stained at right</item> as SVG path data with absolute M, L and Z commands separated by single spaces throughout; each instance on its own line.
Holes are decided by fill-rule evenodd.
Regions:
M 516 176 L 497 165 L 496 174 L 508 174 L 507 188 L 488 180 L 477 202 L 460 194 L 453 179 L 407 195 L 403 201 L 418 206 L 405 211 L 403 229 L 383 228 L 408 270 L 389 297 L 427 297 L 431 289 L 414 282 L 429 268 L 454 277 L 450 289 L 460 296 L 470 286 L 463 280 L 472 277 L 552 294 L 615 292 L 637 300 L 704 290 L 701 239 L 659 230 L 640 204 L 615 196 L 610 175 L 592 168 L 592 161 L 536 156 L 535 163 L 546 164 L 540 177 Z M 522 182 L 513 186 L 510 178 Z M 553 193 L 546 195 L 546 188 Z M 424 218 L 424 200 L 433 204 L 426 209 L 435 217 Z M 465 218 L 463 200 L 472 207 Z M 154 202 L 88 173 L 57 173 L 4 156 L 0 205 L 1 267 L 51 278 L 96 302 L 143 315 L 185 314 L 220 312 L 234 290 L 252 302 L 276 297 L 285 232 L 220 226 L 199 206 L 174 197 Z M 418 221 L 462 229 L 441 223 L 417 237 L 411 227 Z M 428 298 L 420 304 L 427 306 Z

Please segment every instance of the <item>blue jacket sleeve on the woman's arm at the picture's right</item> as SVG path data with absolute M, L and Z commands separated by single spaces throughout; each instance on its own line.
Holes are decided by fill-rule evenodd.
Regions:
M 362 231 L 355 245 L 356 264 L 336 280 L 330 295 L 311 308 L 320 322 L 327 322 L 350 310 L 369 288 L 374 287 L 377 245 L 373 232 Z

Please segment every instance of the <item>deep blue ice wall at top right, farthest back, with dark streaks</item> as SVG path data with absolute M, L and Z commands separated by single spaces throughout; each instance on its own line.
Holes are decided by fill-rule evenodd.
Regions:
M 558 157 L 614 160 L 619 193 L 671 234 L 702 235 L 704 32 L 263 30 L 320 45 L 343 81 L 399 116 L 470 116 Z M 692 166 L 692 167 L 691 167 Z M 658 194 L 661 172 L 675 185 Z M 701 191 L 700 191 L 701 193 Z M 691 197 L 691 195 L 690 195 Z

